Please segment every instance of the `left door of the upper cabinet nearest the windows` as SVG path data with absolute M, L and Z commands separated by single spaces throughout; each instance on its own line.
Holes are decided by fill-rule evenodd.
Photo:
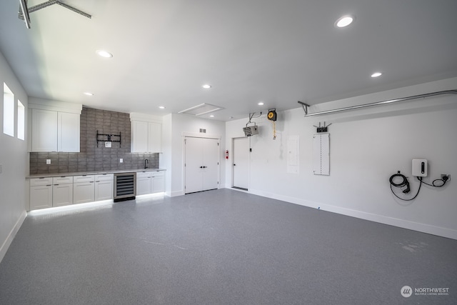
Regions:
M 57 112 L 31 109 L 31 151 L 57 151 Z

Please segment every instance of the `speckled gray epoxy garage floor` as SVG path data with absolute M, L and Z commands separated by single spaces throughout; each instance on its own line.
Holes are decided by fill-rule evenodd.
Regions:
M 0 304 L 457 304 L 456 257 L 455 240 L 220 189 L 27 216 Z

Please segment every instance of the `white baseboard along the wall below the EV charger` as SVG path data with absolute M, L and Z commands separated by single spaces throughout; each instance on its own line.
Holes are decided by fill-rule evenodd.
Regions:
M 380 224 L 388 224 L 390 226 L 398 226 L 403 229 L 409 229 L 414 231 L 419 231 L 427 234 L 433 234 L 436 236 L 446 237 L 448 239 L 457 239 L 457 230 L 443 228 L 441 226 L 432 226 L 430 224 L 421 224 L 415 221 L 408 221 L 405 219 L 398 219 L 394 217 L 388 217 L 378 214 L 367 213 L 364 211 L 357 211 L 353 209 L 346 209 L 340 206 L 333 206 L 330 204 L 321 204 L 314 201 L 307 201 L 303 199 L 298 199 L 295 197 L 282 196 L 278 194 L 271 194 L 265 191 L 258 191 L 250 189 L 249 193 L 255 194 L 258 196 L 268 197 L 271 199 L 277 199 L 281 201 L 290 202 L 292 204 L 299 204 L 301 206 L 308 206 L 313 209 L 321 209 L 323 211 L 330 211 L 336 214 L 342 214 L 346 216 L 356 217 L 358 219 L 364 219 L 368 221 L 378 222 Z

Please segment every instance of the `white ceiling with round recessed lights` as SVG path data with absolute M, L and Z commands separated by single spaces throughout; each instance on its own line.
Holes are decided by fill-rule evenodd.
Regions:
M 457 76 L 456 0 L 61 1 L 92 18 L 53 5 L 26 29 L 19 0 L 1 1 L 0 51 L 29 96 L 155 115 L 207 103 L 227 121 Z

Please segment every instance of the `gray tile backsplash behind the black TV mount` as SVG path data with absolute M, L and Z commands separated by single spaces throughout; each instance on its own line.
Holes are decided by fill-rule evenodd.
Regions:
M 83 107 L 79 153 L 31 152 L 30 174 L 58 174 L 84 171 L 112 171 L 143 169 L 144 159 L 149 168 L 159 167 L 159 154 L 131 153 L 131 124 L 129 114 Z M 104 142 L 97 147 L 96 133 L 121 134 L 121 143 L 112 142 L 106 148 Z M 46 165 L 51 159 L 51 165 Z M 119 159 L 124 159 L 120 163 Z

